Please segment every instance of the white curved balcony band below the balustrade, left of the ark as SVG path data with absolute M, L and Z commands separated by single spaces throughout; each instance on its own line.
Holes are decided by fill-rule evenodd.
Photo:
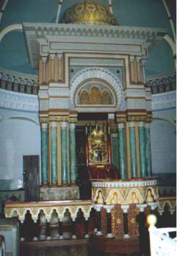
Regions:
M 39 110 L 39 101 L 35 95 L 0 89 L 0 107 L 37 113 Z

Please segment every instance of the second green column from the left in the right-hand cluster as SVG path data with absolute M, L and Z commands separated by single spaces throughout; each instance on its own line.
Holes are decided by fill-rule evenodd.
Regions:
M 129 137 L 130 137 L 130 154 L 131 154 L 131 177 L 137 177 L 137 152 L 136 152 L 136 137 L 135 124 L 129 122 Z

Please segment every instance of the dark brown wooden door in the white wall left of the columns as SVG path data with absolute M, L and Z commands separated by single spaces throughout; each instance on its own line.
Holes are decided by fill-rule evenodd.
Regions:
M 39 155 L 24 155 L 25 201 L 39 200 Z

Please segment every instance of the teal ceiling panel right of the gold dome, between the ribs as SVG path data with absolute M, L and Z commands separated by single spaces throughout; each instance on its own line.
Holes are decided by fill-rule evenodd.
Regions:
M 112 0 L 112 9 L 121 26 L 166 28 L 172 35 L 162 0 Z

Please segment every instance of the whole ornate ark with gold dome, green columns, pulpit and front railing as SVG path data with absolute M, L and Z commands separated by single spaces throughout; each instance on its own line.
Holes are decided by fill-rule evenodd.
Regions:
M 62 221 L 68 209 L 75 221 L 82 209 L 88 220 L 95 208 L 97 235 L 137 237 L 136 217 L 163 208 L 151 169 L 151 88 L 145 85 L 145 61 L 166 30 L 119 26 L 94 2 L 71 7 L 62 24 L 24 23 L 23 29 L 29 63 L 38 67 L 41 202 L 7 203 L 6 216 L 16 214 L 23 222 L 28 209 L 37 221 L 42 210 L 50 221 L 55 210 Z M 90 122 L 93 129 L 95 120 L 99 127 L 108 124 L 109 164 L 116 155 L 119 179 L 92 181 L 92 199 L 78 201 L 76 127 Z M 73 201 L 46 202 L 58 200 Z

